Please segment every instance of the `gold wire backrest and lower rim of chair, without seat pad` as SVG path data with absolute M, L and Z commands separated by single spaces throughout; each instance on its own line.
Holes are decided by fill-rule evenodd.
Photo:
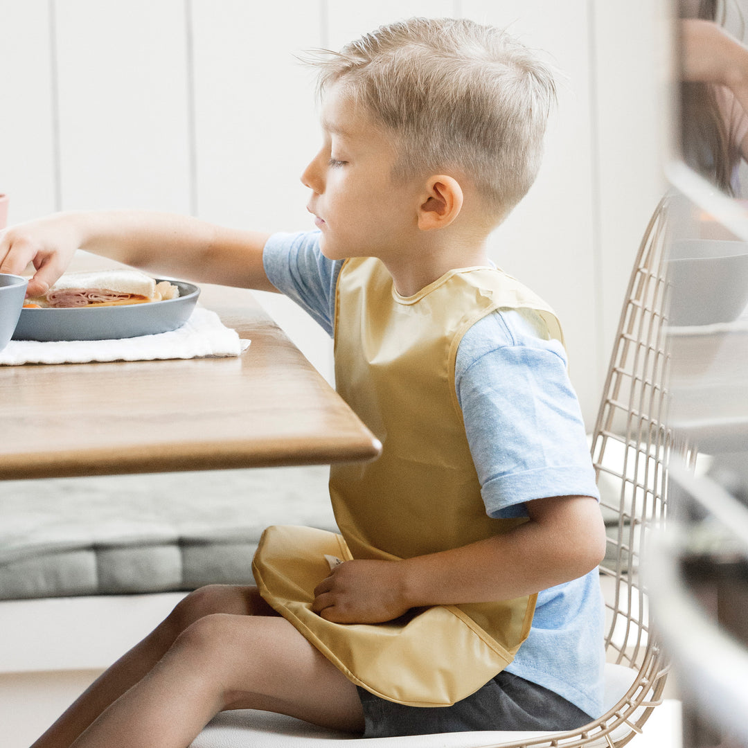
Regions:
M 652 630 L 640 562 L 649 532 L 665 518 L 666 466 L 674 449 L 666 426 L 666 209 L 663 199 L 634 261 L 592 433 L 592 462 L 608 532 L 600 567 L 605 648 L 609 663 L 631 668 L 631 687 L 584 729 L 502 748 L 618 748 L 642 732 L 662 699 L 668 667 Z

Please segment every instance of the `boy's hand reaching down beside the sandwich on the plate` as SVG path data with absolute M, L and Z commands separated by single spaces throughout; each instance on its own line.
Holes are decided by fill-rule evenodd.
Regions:
M 10 226 L 0 231 L 0 272 L 20 275 L 33 263 L 36 272 L 26 295 L 42 295 L 65 272 L 80 243 L 79 228 L 70 214 Z

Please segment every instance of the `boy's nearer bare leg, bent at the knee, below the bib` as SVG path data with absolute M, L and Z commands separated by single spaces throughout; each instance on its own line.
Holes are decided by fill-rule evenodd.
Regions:
M 355 686 L 285 619 L 199 619 L 74 748 L 187 748 L 224 709 L 257 708 L 361 732 Z

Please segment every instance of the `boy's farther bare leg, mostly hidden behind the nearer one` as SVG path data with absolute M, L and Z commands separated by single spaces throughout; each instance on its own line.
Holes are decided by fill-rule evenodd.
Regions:
M 32 748 L 70 746 L 108 705 L 150 671 L 182 631 L 212 613 L 275 615 L 252 586 L 211 585 L 192 592 L 151 634 L 97 678 Z

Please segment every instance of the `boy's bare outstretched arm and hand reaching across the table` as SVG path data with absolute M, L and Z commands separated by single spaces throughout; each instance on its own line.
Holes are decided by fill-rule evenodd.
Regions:
M 274 291 L 263 268 L 268 236 L 159 212 L 57 213 L 0 231 L 0 272 L 34 263 L 28 295 L 39 295 L 81 248 L 162 275 Z

